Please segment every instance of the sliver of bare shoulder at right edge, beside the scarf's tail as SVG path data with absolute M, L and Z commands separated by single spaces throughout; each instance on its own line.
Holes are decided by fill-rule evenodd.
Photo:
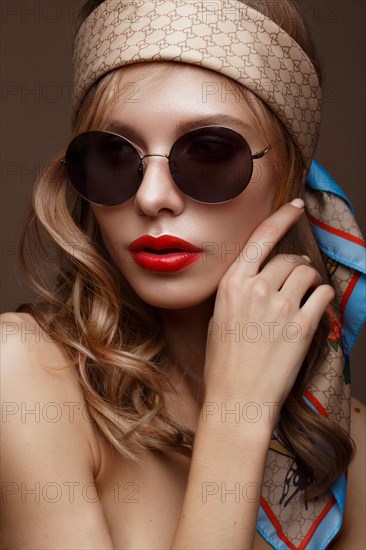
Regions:
M 348 469 L 347 499 L 342 531 L 332 550 L 362 550 L 366 544 L 366 407 L 358 399 L 351 399 L 351 436 L 355 455 Z

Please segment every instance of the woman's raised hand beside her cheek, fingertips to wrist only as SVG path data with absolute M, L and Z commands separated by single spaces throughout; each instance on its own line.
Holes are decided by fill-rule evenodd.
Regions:
M 219 284 L 206 346 L 206 402 L 281 407 L 296 380 L 334 290 L 303 256 L 278 255 L 260 269 L 302 215 L 301 202 L 262 222 Z M 250 260 L 254 244 L 257 258 Z M 316 288 L 300 307 L 310 287 Z

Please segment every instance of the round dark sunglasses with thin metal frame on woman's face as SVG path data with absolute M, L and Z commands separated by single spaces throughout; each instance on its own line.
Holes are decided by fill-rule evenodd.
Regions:
M 270 148 L 252 154 L 247 141 L 234 130 L 205 126 L 180 136 L 169 155 L 141 156 L 133 143 L 118 134 L 90 131 L 71 141 L 61 162 L 84 199 L 116 206 L 137 192 L 146 157 L 166 157 L 171 176 L 185 195 L 216 204 L 244 191 L 252 177 L 253 160 L 262 158 Z

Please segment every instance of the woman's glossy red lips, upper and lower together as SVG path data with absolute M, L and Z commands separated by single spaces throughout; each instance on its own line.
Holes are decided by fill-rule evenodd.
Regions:
M 134 262 L 148 271 L 174 273 L 188 267 L 202 256 L 202 249 L 191 243 L 162 235 L 143 235 L 128 247 Z

